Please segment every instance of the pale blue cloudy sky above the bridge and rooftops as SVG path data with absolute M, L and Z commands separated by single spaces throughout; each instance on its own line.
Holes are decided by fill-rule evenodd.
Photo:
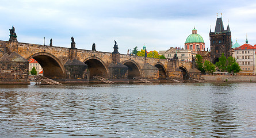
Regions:
M 21 43 L 52 44 L 113 52 L 114 40 L 120 53 L 146 45 L 147 51 L 184 48 L 192 29 L 209 48 L 209 30 L 222 17 L 230 25 L 233 44 L 256 44 L 256 1 L 182 0 L 0 0 L 0 40 L 9 40 L 16 29 Z M 218 16 L 217 16 L 218 13 Z M 222 14 L 222 15 L 221 15 Z

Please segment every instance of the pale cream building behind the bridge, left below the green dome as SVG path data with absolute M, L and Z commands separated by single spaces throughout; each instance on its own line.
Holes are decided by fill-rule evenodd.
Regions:
M 159 55 L 163 55 L 166 57 L 166 59 L 173 59 L 174 55 L 177 53 L 179 60 L 184 60 L 187 62 L 192 61 L 192 55 L 196 56 L 196 53 L 193 53 L 191 50 L 188 49 L 180 49 L 180 48 L 173 48 L 166 51 L 159 51 Z

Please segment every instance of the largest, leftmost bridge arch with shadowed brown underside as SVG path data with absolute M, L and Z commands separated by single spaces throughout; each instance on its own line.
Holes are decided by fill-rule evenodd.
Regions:
M 63 79 L 66 70 L 60 60 L 51 53 L 39 52 L 28 57 L 35 59 L 43 68 L 43 75 L 51 79 Z

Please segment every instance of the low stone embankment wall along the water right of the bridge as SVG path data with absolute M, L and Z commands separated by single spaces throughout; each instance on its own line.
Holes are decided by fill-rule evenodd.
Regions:
M 201 75 L 204 82 L 256 82 L 253 75 Z

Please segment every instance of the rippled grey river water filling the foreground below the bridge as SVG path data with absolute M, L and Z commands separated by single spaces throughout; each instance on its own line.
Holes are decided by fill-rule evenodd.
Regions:
M 256 83 L 0 85 L 0 137 L 255 137 Z

